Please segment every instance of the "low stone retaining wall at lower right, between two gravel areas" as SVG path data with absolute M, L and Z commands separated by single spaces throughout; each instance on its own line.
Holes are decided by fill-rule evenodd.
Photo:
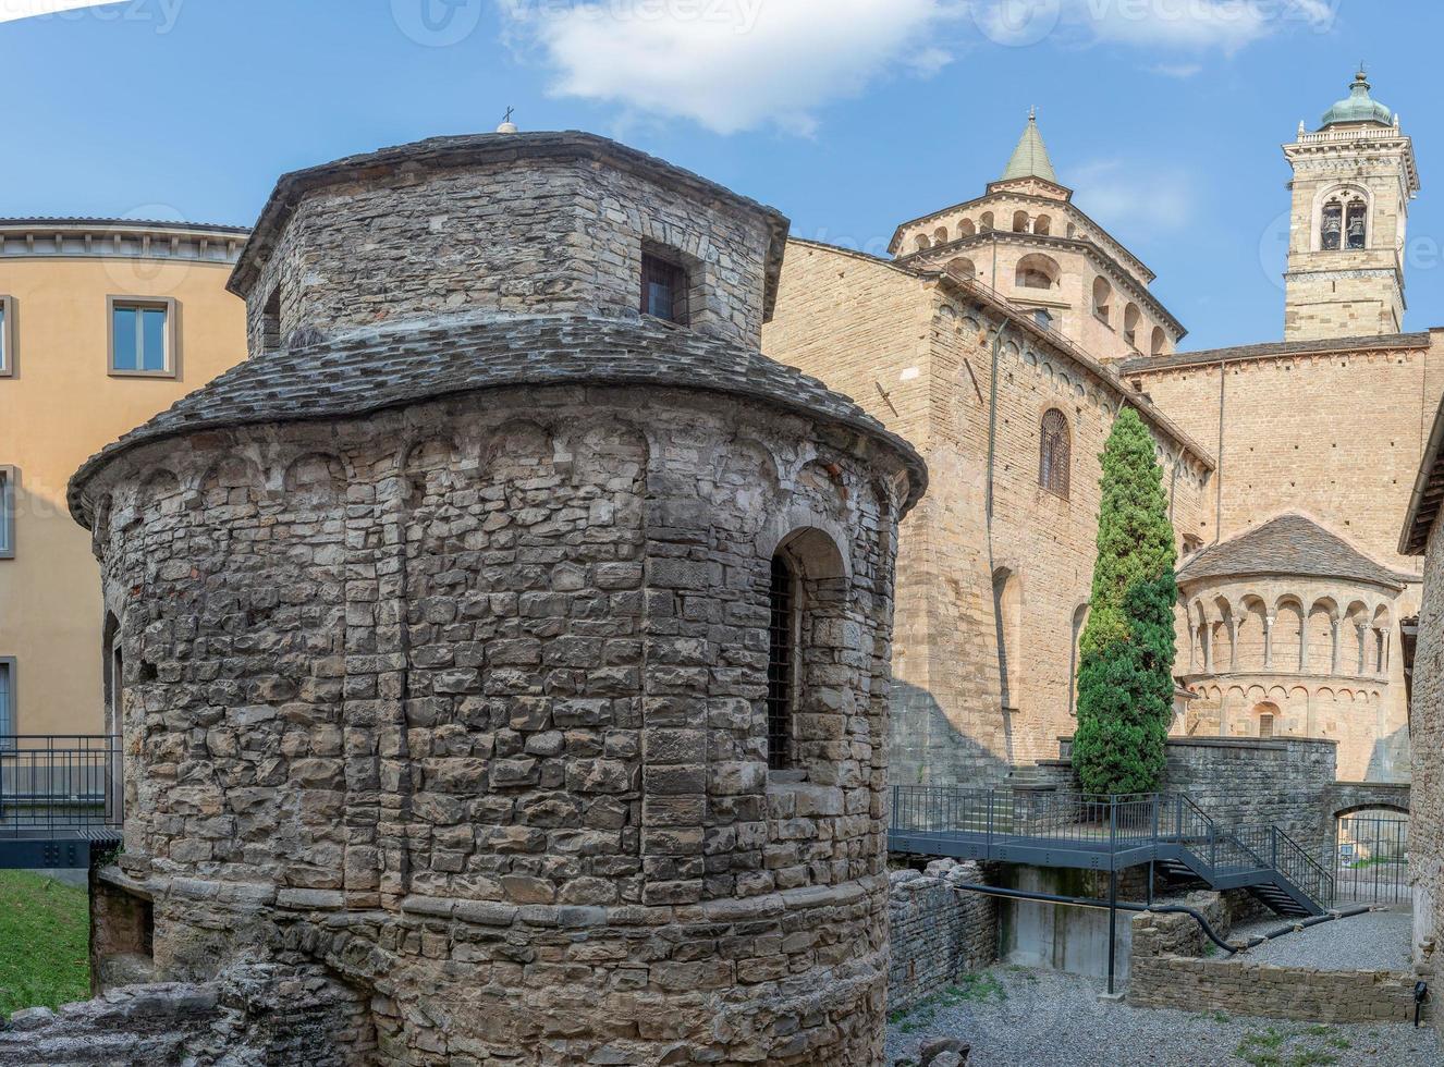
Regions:
M 1217 894 L 1207 895 L 1216 905 L 1209 908 L 1210 917 L 1219 917 Z M 1414 976 L 1408 973 L 1276 967 L 1249 963 L 1246 956 L 1200 959 L 1199 926 L 1184 914 L 1144 913 L 1134 917 L 1132 927 L 1128 1002 L 1138 1008 L 1301 1022 L 1414 1018 Z

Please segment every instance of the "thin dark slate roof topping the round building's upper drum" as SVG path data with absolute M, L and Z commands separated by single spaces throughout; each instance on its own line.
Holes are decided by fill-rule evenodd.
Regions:
M 710 182 L 700 175 L 674 166 L 645 152 L 628 147 L 595 133 L 567 130 L 565 133 L 478 133 L 462 137 L 432 137 L 413 144 L 368 152 L 361 156 L 347 156 L 332 163 L 322 163 L 306 170 L 282 175 L 276 189 L 261 209 L 251 240 L 241 250 L 241 258 L 231 274 L 228 289 L 240 297 L 250 293 L 266 258 L 280 240 L 287 221 L 300 199 L 316 189 L 345 182 L 381 182 L 397 175 L 413 176 L 423 170 L 474 166 L 478 163 L 516 163 L 524 166 L 529 159 L 591 159 L 609 166 L 631 170 L 660 185 L 669 185 L 687 193 L 712 201 L 722 201 L 735 208 L 758 212 L 767 218 L 773 231 L 767 254 L 767 282 L 764 286 L 762 315 L 773 318 L 777 303 L 777 282 L 783 270 L 783 254 L 787 248 L 790 222 L 777 208 L 758 204 L 735 193 L 726 186 Z

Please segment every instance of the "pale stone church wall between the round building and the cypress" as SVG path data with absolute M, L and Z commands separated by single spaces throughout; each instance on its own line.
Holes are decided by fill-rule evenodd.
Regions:
M 1071 731 L 1099 455 L 1126 387 L 1008 322 L 989 530 L 998 325 L 995 310 L 950 283 L 791 241 L 764 329 L 770 354 L 851 393 L 928 465 L 928 495 L 904 524 L 898 552 L 895 783 L 1001 780 L 1014 762 L 1053 757 L 1057 735 Z M 1050 409 L 1064 413 L 1071 435 L 1066 500 L 1038 485 L 1040 422 Z M 1206 507 L 1206 468 L 1161 426 L 1155 436 L 1175 524 L 1191 530 Z

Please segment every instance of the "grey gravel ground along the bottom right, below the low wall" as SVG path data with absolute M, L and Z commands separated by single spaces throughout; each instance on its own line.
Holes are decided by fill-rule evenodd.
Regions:
M 927 1038 L 960 1037 L 969 1067 L 1444 1067 L 1428 1028 L 1129 1008 L 1100 1001 L 1102 982 L 1006 966 L 953 989 L 891 1019 L 888 1063 Z

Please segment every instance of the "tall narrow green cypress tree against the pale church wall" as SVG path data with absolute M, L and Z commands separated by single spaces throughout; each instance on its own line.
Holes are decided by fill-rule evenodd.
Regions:
M 1102 497 L 1073 765 L 1087 793 L 1151 793 L 1173 719 L 1177 550 L 1154 439 L 1131 407 L 1103 448 Z

